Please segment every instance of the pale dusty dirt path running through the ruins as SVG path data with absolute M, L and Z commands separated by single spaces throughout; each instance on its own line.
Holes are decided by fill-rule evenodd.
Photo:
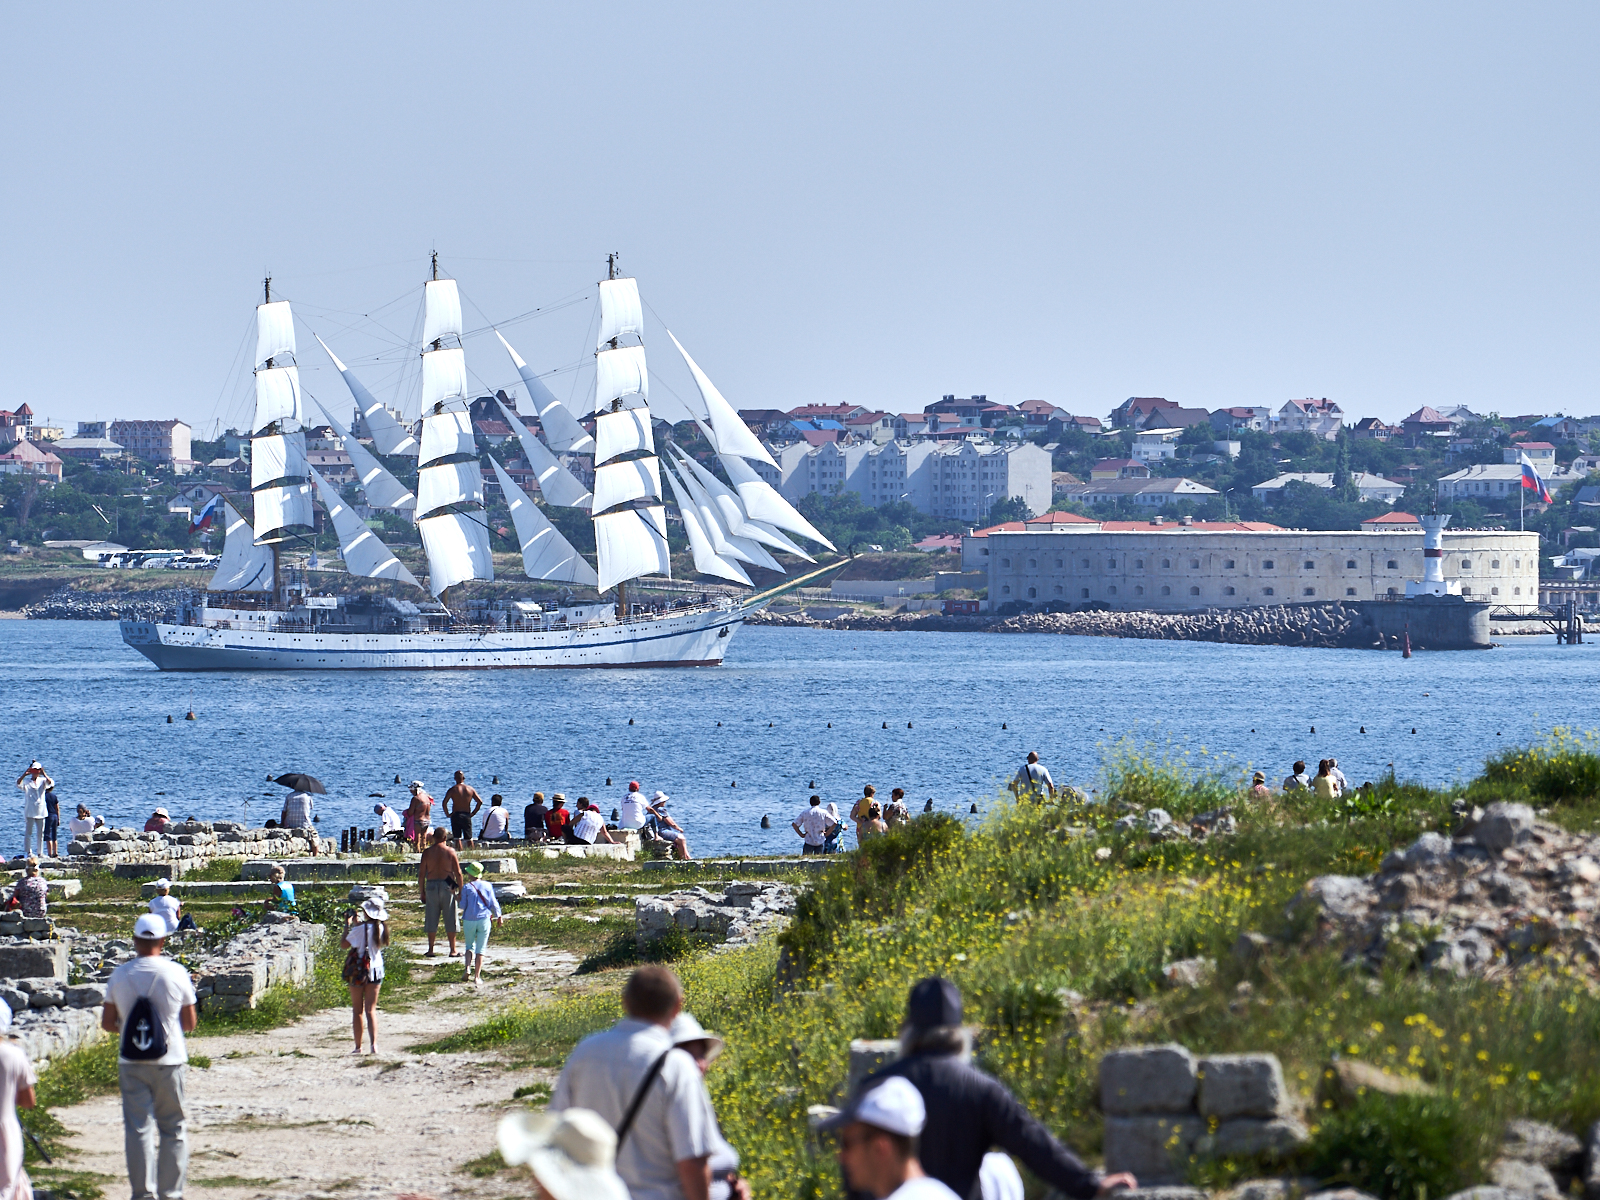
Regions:
M 422 946 L 406 939 L 406 949 Z M 190 1053 L 208 1054 L 211 1066 L 189 1069 L 189 1194 L 522 1195 L 520 1182 L 475 1178 L 459 1166 L 494 1149 L 494 1125 L 512 1091 L 554 1072 L 507 1070 L 488 1051 L 419 1056 L 403 1046 L 466 1029 L 509 1002 L 534 1000 L 576 965 L 563 950 L 491 947 L 480 987 L 440 986 L 402 1011 L 379 1005 L 376 1056 L 350 1054 L 349 1008 L 269 1032 L 192 1038 Z M 461 960 L 438 970 L 459 971 Z M 128 1200 L 120 1101 L 102 1096 L 56 1115 L 74 1131 L 75 1147 L 61 1166 L 102 1174 L 107 1200 Z

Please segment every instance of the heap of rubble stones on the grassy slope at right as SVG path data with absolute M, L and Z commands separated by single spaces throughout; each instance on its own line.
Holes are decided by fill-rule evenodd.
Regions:
M 1453 974 L 1560 963 L 1600 981 L 1597 912 L 1600 837 L 1458 802 L 1454 837 L 1422 834 L 1365 878 L 1320 875 L 1286 917 L 1374 968 L 1400 952 Z

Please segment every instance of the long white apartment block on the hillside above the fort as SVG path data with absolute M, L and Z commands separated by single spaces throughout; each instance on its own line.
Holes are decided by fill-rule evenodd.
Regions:
M 778 462 L 779 491 L 792 502 L 854 491 L 872 507 L 906 501 L 918 512 L 970 522 L 986 520 L 1003 499 L 1021 499 L 1032 512 L 1053 502 L 1050 451 L 1032 442 L 802 442 L 779 451 Z

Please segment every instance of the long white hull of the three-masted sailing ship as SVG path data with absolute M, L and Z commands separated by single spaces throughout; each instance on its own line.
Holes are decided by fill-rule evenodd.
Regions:
M 749 610 L 549 630 L 323 634 L 123 621 L 122 640 L 162 670 L 506 670 L 715 667 Z

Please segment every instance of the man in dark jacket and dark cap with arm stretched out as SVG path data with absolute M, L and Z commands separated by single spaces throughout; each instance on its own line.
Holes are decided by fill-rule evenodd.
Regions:
M 984 1155 L 998 1149 L 1072 1200 L 1138 1187 L 1128 1173 L 1102 1174 L 1085 1166 L 1000 1080 L 968 1062 L 968 1050 L 960 990 L 949 979 L 922 979 L 906 1000 L 901 1058 L 858 1088 L 864 1093 L 890 1075 L 917 1086 L 928 1109 L 923 1171 L 963 1200 L 979 1200 L 978 1170 Z

